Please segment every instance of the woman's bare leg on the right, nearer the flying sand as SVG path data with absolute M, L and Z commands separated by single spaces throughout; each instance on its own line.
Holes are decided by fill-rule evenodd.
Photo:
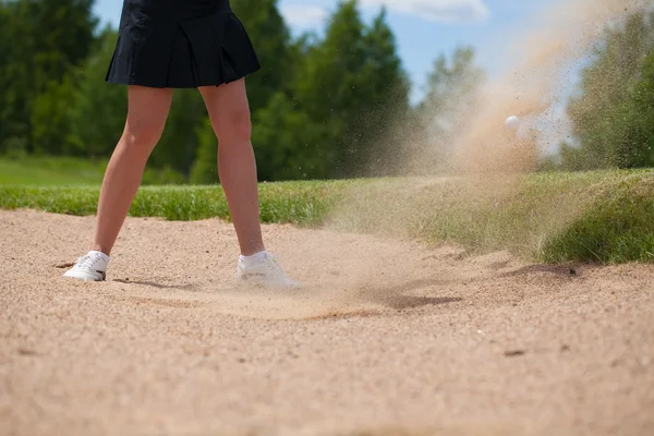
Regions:
M 218 173 L 229 204 L 241 254 L 265 251 L 259 223 L 256 161 L 245 81 L 201 87 L 211 125 L 218 136 Z

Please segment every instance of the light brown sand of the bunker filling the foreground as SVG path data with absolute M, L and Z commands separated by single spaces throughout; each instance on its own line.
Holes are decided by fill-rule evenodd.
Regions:
M 293 292 L 238 290 L 219 220 L 0 211 L 1 435 L 652 435 L 654 267 L 265 227 Z

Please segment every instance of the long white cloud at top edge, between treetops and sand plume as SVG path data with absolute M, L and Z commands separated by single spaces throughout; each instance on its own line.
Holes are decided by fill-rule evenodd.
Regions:
M 445 23 L 482 22 L 491 15 L 484 0 L 361 0 L 361 4 L 386 5 L 392 11 Z

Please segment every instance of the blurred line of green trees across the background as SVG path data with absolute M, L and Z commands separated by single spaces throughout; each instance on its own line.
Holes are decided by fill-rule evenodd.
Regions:
M 277 0 L 231 3 L 262 62 L 246 78 L 261 180 L 392 174 L 401 162 L 395 144 L 447 142 L 448 123 L 435 120 L 462 113 L 453 100 L 483 82 L 474 50 L 460 47 L 434 61 L 423 100 L 411 105 L 384 9 L 365 23 L 356 0 L 341 0 L 323 35 L 293 37 Z M 99 28 L 93 7 L 94 0 L 0 0 L 0 154 L 110 156 L 126 89 L 104 81 L 118 31 Z M 576 141 L 564 144 L 556 166 L 654 165 L 653 40 L 644 12 L 607 31 L 569 106 Z M 175 92 L 148 165 L 166 181 L 215 183 L 216 150 L 199 94 Z

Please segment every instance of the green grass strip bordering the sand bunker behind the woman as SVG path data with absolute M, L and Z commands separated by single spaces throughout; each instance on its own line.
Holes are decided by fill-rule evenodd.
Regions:
M 0 208 L 90 215 L 98 186 L 0 185 Z M 508 250 L 530 259 L 654 262 L 654 172 L 262 183 L 262 221 Z M 219 186 L 143 186 L 130 214 L 229 219 Z

